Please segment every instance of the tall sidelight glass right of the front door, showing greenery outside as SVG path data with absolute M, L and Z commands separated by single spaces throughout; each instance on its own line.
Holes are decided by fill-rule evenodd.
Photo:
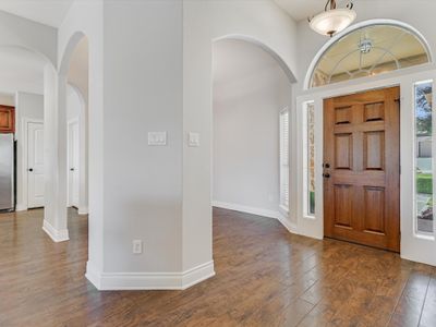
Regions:
M 415 110 L 415 229 L 433 234 L 433 81 L 414 86 Z

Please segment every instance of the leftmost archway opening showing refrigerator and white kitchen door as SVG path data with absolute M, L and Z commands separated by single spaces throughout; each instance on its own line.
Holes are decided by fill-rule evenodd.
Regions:
M 0 211 L 45 206 L 44 98 L 45 69 L 55 72 L 44 55 L 22 46 L 0 46 L 0 120 L 2 183 Z M 15 144 L 15 150 L 13 149 Z M 9 159 L 14 162 L 4 167 Z M 5 169 L 5 170 L 3 170 Z M 43 213 L 43 211 L 41 211 Z M 39 215 L 37 213 L 37 215 Z

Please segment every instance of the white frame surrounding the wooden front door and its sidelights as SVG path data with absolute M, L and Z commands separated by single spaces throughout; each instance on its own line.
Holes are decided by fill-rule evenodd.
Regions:
M 392 76 L 395 75 L 395 76 Z M 423 237 L 415 233 L 415 192 L 414 192 L 414 95 L 413 86 L 419 81 L 433 80 L 433 104 L 436 107 L 436 70 L 414 72 L 409 71 L 402 75 L 389 74 L 390 77 L 376 76 L 372 78 L 361 78 L 351 83 L 340 83 L 327 87 L 313 88 L 305 95 L 296 98 L 296 123 L 293 126 L 296 130 L 296 153 L 294 153 L 293 165 L 296 167 L 298 181 L 295 184 L 298 194 L 296 198 L 296 227 L 299 234 L 311 238 L 324 238 L 324 181 L 320 178 L 323 173 L 323 128 L 324 128 L 324 99 L 349 95 L 354 93 L 366 92 L 375 88 L 385 88 L 390 86 L 400 86 L 401 88 L 401 111 L 400 111 L 400 220 L 401 220 L 401 257 L 414 262 L 436 265 L 436 239 Z M 359 83 L 360 82 L 360 83 Z M 303 144 L 305 137 L 305 122 L 302 108 L 305 102 L 314 101 L 315 104 L 315 197 L 316 207 L 315 216 L 307 217 L 304 215 L 304 196 L 305 175 L 304 175 L 304 150 Z M 433 108 L 433 118 L 436 119 L 436 109 Z M 436 133 L 435 133 L 436 134 Z M 436 154 L 436 135 L 433 135 L 433 152 Z M 433 171 L 436 171 L 435 161 L 433 162 Z M 434 179 L 434 190 L 436 190 Z M 436 193 L 436 192 L 435 192 Z M 411 196 L 413 194 L 413 196 Z M 435 197 L 435 194 L 434 194 Z M 435 202 L 436 203 L 436 202 Z M 434 223 L 436 235 L 436 221 Z

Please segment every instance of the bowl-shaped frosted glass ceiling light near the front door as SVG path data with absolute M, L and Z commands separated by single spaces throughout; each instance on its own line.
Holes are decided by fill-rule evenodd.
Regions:
M 350 26 L 355 17 L 352 1 L 348 2 L 346 8 L 337 8 L 336 0 L 328 0 L 324 12 L 308 19 L 308 23 L 316 33 L 332 37 Z

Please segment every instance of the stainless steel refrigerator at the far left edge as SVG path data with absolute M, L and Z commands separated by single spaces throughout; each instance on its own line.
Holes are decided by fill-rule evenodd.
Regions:
M 0 134 L 0 210 L 15 208 L 15 150 L 13 134 Z

